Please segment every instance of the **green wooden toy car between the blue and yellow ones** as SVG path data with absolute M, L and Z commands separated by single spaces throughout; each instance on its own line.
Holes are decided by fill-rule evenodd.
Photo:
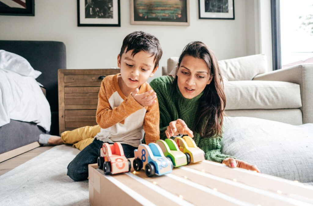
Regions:
M 174 140 L 157 140 L 156 144 L 160 146 L 163 154 L 172 161 L 174 167 L 179 167 L 190 163 L 190 155 L 188 153 L 184 154 L 182 151 L 180 151 Z

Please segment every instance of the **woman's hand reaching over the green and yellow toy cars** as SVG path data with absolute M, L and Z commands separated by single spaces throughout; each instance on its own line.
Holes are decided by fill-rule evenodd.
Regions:
M 171 121 L 165 130 L 165 134 L 167 138 L 176 136 L 178 134 L 193 137 L 193 132 L 187 127 L 186 123 L 181 119 Z

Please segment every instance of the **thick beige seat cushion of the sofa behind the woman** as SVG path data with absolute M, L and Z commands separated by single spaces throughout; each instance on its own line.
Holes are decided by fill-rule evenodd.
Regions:
M 298 84 L 284 81 L 224 81 L 226 110 L 300 108 Z

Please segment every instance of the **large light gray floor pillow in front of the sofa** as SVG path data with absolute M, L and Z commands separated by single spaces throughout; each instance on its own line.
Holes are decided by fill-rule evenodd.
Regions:
M 313 124 L 225 117 L 221 145 L 224 154 L 256 164 L 262 173 L 313 182 Z

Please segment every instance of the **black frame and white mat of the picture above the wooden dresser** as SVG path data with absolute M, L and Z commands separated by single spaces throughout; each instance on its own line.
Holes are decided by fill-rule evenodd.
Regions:
M 101 0 L 91 0 L 92 2 L 101 2 Z M 112 0 L 112 18 L 98 18 L 90 17 L 85 18 L 87 0 L 77 0 L 77 26 L 78 27 L 121 27 L 121 7 L 120 0 Z M 115 8 L 116 7 L 116 8 Z M 84 11 L 84 13 L 82 13 Z M 115 14 L 116 12 L 116 14 Z

